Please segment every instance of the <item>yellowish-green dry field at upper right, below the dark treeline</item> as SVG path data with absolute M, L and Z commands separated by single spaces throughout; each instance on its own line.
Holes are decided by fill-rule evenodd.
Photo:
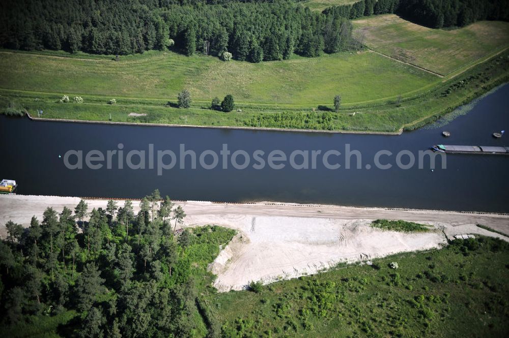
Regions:
M 366 46 L 441 75 L 509 47 L 509 22 L 479 21 L 459 29 L 432 29 L 394 14 L 353 20 Z

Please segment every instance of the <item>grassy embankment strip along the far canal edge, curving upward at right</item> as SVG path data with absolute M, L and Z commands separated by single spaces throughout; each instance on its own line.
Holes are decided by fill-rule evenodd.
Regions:
M 187 115 L 187 124 L 194 126 L 398 132 L 401 128 L 413 129 L 433 121 L 508 79 L 509 53 L 503 53 L 428 90 L 402 96 L 399 103 L 397 98 L 392 98 L 364 104 L 344 104 L 338 113 L 317 110 L 315 105 L 238 102 L 236 108 L 242 109 L 242 112 L 234 110 L 227 113 L 211 110 L 209 101 L 194 102 L 191 108 L 180 109 L 174 107 L 175 103 L 166 105 L 166 99 L 138 98 L 117 98 L 116 105 L 108 105 L 106 102 L 111 97 L 94 95 L 83 95 L 84 103 L 62 104 L 57 103 L 60 95 L 6 89 L 0 89 L 0 112 L 14 102 L 25 107 L 33 116 L 37 116 L 37 109 L 43 109 L 43 118 L 108 121 L 111 114 L 111 121 L 136 122 L 137 119 L 128 116 L 135 112 L 148 114 L 149 122 L 158 124 L 184 125 L 184 116 Z M 330 107 L 332 103 L 324 109 Z M 279 119 L 282 112 L 293 118 Z

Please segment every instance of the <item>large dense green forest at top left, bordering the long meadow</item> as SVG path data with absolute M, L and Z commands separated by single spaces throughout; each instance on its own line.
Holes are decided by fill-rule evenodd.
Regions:
M 182 4 L 181 4 L 182 3 Z M 238 60 L 318 56 L 357 48 L 347 18 L 292 1 L 10 0 L 0 5 L 0 46 L 97 54 L 172 48 Z

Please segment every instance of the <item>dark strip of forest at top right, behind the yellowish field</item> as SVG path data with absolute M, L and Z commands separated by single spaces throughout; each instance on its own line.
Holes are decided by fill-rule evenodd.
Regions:
M 509 0 L 362 0 L 324 13 L 349 19 L 396 13 L 432 28 L 461 27 L 479 20 L 509 20 Z

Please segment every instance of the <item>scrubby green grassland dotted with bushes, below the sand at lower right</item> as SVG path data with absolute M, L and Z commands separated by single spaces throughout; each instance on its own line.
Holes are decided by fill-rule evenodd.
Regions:
M 506 337 L 509 245 L 456 240 L 214 300 L 223 337 Z M 389 268 L 397 262 L 398 269 Z

